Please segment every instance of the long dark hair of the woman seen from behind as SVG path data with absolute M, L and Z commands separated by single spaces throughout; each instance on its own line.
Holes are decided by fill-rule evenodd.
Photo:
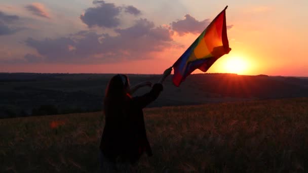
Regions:
M 125 80 L 125 81 L 124 81 Z M 117 116 L 123 113 L 125 101 L 128 97 L 126 88 L 128 87 L 128 77 L 124 74 L 113 76 L 108 82 L 103 110 L 105 116 Z

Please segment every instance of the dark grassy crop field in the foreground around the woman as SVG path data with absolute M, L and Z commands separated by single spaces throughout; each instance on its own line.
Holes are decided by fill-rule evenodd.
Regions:
M 308 98 L 145 109 L 140 172 L 308 172 Z M 0 172 L 97 172 L 101 112 L 0 120 Z

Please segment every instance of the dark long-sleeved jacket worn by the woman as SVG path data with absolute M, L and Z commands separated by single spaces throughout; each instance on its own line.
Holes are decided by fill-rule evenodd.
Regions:
M 152 155 L 146 137 L 142 109 L 156 100 L 161 91 L 163 85 L 156 83 L 151 91 L 143 96 L 133 98 L 127 96 L 124 116 L 105 116 L 100 149 L 110 161 L 130 161 L 133 164 L 143 152 L 148 156 Z

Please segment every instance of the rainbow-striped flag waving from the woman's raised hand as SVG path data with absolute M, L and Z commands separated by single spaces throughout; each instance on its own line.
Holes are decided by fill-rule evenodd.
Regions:
M 206 72 L 214 62 L 231 50 L 227 38 L 225 9 L 216 16 L 192 45 L 174 63 L 172 81 L 179 86 L 197 68 Z

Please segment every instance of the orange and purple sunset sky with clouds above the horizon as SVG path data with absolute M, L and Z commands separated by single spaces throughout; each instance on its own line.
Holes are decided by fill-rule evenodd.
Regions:
M 308 76 L 306 0 L 5 0 L 0 72 L 160 74 L 225 6 L 232 51 L 207 72 Z

